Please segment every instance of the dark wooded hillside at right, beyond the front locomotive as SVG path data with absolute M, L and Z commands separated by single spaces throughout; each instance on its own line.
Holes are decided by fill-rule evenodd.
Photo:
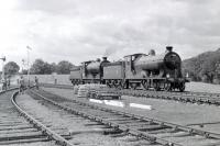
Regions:
M 220 83 L 220 48 L 184 60 L 183 71 L 194 81 Z

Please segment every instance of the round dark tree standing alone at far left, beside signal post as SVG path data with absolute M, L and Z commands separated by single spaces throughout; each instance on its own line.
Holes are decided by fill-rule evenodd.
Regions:
M 19 72 L 19 65 L 14 61 L 9 61 L 4 65 L 4 72 L 9 77 Z

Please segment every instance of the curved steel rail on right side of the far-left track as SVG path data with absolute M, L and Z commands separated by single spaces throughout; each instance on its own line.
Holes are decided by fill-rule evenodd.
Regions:
M 68 141 L 66 141 L 64 137 L 58 135 L 57 133 L 53 132 L 45 125 L 43 125 L 41 122 L 38 122 L 36 119 L 28 114 L 24 110 L 22 110 L 15 102 L 15 98 L 18 96 L 19 91 L 15 91 L 13 96 L 11 97 L 12 104 L 16 108 L 19 113 L 21 113 L 22 116 L 24 116 L 34 127 L 40 130 L 43 134 L 47 135 L 50 139 L 54 139 L 57 144 L 62 146 L 74 146 Z

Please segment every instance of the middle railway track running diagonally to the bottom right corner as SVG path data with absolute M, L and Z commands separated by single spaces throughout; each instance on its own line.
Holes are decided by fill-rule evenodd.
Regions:
M 100 108 L 76 99 L 68 100 L 43 90 L 32 90 L 31 92 L 73 114 L 81 115 L 86 119 L 113 127 L 122 135 L 131 134 L 141 139 L 146 139 L 152 145 L 220 145 L 220 134 L 217 133 Z

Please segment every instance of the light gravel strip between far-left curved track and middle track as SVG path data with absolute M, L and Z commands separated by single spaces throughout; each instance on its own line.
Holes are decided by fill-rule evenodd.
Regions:
M 43 123 L 47 123 L 52 130 L 59 127 L 72 133 L 79 132 L 75 133 L 73 139 L 70 139 L 73 144 L 78 146 L 133 146 L 147 144 L 147 142 L 129 142 L 135 139 L 133 136 L 116 138 L 111 137 L 111 135 L 92 132 L 97 128 L 103 128 L 103 125 L 89 125 L 91 122 L 88 120 L 70 115 L 54 105 L 43 103 L 41 100 L 34 100 L 26 94 L 20 96 L 18 103 L 35 117 L 41 119 Z M 90 131 L 89 133 L 80 133 L 88 130 Z

